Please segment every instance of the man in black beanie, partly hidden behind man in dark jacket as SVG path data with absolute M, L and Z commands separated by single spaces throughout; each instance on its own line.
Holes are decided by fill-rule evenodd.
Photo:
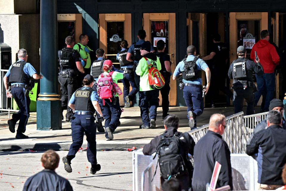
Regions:
M 269 111 L 276 110 L 281 113 L 281 116 L 284 114 L 284 104 L 280 99 L 273 99 L 270 101 L 269 104 Z M 256 125 L 255 129 L 253 130 L 253 134 L 258 133 L 261 130 L 265 130 L 267 128 L 267 119 L 261 121 L 259 124 Z M 286 130 L 286 121 L 282 117 L 282 128 Z

